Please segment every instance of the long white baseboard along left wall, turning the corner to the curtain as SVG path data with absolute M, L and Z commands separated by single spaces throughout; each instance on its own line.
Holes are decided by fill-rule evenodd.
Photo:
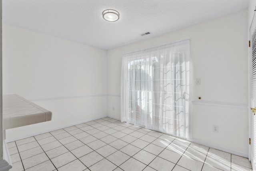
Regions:
M 24 138 L 28 138 L 28 137 L 32 137 L 32 136 L 35 136 L 35 135 L 40 135 L 42 133 L 47 133 L 47 132 L 51 132 L 51 131 L 56 131 L 58 129 L 63 129 L 65 127 L 70 127 L 70 126 L 74 126 L 74 125 L 78 125 L 80 123 L 85 123 L 85 122 L 89 122 L 89 121 L 93 121 L 93 120 L 96 120 L 96 119 L 102 119 L 104 117 L 110 117 L 112 119 L 116 119 L 118 121 L 120 121 L 119 118 L 116 118 L 116 117 L 112 117 L 112 116 L 109 116 L 109 115 L 104 115 L 104 116 L 100 116 L 100 117 L 96 117 L 96 118 L 93 118 L 93 119 L 86 119 L 84 121 L 79 121 L 79 122 L 76 122 L 76 123 L 71 123 L 71 124 L 68 124 L 68 125 L 63 125 L 61 127 L 56 127 L 56 128 L 52 128 L 52 129 L 47 129 L 45 131 L 40 131 L 40 132 L 36 132 L 36 133 L 32 133 L 32 134 L 29 134 L 29 135 L 24 135 L 24 136 L 20 136 L 20 137 L 15 137 L 15 138 L 12 138 L 12 139 L 6 139 L 6 143 L 9 143 L 9 142 L 12 142 L 12 141 L 17 141 L 17 140 L 20 140 L 20 139 L 24 139 Z M 0 170 L 1 171 L 1 170 Z

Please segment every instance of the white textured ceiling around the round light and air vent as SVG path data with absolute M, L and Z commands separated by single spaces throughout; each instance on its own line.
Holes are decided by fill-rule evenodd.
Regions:
M 249 0 L 2 0 L 2 21 L 109 50 L 248 8 Z M 102 12 L 120 13 L 107 22 Z M 140 36 L 144 32 L 152 32 Z

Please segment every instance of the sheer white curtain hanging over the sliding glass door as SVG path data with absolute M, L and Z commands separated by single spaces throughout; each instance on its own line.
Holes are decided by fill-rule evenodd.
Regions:
M 124 54 L 121 121 L 186 138 L 189 40 Z

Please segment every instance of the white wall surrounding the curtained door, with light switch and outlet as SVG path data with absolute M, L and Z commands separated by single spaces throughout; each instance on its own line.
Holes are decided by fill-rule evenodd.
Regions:
M 190 38 L 191 99 L 194 101 L 191 138 L 248 157 L 247 26 L 248 10 L 242 10 L 109 50 L 108 115 L 120 118 L 122 54 Z M 201 79 L 201 85 L 195 84 L 196 78 Z M 205 105 L 206 102 L 211 105 Z M 218 133 L 212 131 L 212 125 L 218 125 Z

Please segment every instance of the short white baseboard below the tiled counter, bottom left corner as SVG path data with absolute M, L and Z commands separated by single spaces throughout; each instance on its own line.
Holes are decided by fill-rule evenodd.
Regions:
M 0 161 L 0 171 L 8 171 L 12 168 L 10 154 L 5 140 L 3 141 L 3 159 Z

